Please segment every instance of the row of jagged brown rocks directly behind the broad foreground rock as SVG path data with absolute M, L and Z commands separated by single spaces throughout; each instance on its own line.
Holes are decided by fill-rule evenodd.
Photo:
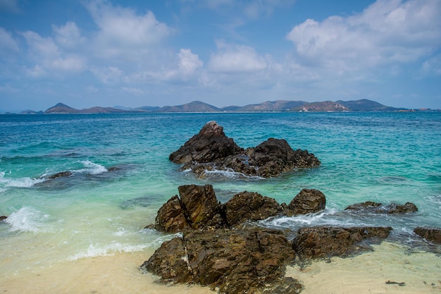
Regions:
M 185 229 L 232 228 L 244 221 L 260 221 L 280 214 L 294 216 L 325 209 L 325 195 L 303 189 L 289 205 L 256 192 L 240 192 L 221 204 L 212 185 L 182 185 L 159 209 L 154 225 L 158 231 L 177 233 Z

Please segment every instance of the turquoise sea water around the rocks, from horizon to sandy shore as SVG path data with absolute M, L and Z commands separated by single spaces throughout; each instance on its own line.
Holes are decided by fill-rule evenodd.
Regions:
M 241 147 L 284 138 L 321 166 L 271 179 L 179 171 L 168 155 L 208 121 Z M 72 175 L 45 179 L 61 171 Z M 325 212 L 263 225 L 387 225 L 392 239 L 413 244 L 415 226 L 441 226 L 441 113 L 2 115 L 0 215 L 8 219 L 0 223 L 0 271 L 154 250 L 170 236 L 144 226 L 190 183 L 212 184 L 222 202 L 243 190 L 290 202 L 316 188 L 327 198 Z M 418 212 L 342 212 L 368 200 L 414 202 Z

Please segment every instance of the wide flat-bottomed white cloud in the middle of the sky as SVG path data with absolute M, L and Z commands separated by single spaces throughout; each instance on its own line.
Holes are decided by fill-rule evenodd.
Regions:
M 211 54 L 209 70 L 214 73 L 250 73 L 267 67 L 267 61 L 256 50 L 244 45 L 218 42 L 218 51 Z

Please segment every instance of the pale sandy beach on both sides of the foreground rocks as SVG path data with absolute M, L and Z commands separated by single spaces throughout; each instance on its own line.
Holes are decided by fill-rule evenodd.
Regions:
M 16 294 L 214 293 L 208 287 L 196 285 L 164 285 L 156 282 L 155 276 L 142 274 L 138 267 L 151 254 L 152 250 L 116 253 L 44 267 L 22 264 L 20 269 L 1 269 L 0 291 Z M 430 252 L 409 254 L 400 245 L 384 242 L 375 245 L 375 251 L 355 257 L 333 257 L 304 268 L 287 267 L 287 276 L 303 283 L 304 294 L 441 293 L 441 257 Z

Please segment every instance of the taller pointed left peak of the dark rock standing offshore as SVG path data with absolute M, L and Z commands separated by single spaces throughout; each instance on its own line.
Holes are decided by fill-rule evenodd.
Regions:
M 234 140 L 225 136 L 223 128 L 216 121 L 209 121 L 197 135 L 185 142 L 177 151 L 170 154 L 170 161 L 175 164 L 187 164 L 192 161 L 207 163 L 223 159 L 243 149 Z

